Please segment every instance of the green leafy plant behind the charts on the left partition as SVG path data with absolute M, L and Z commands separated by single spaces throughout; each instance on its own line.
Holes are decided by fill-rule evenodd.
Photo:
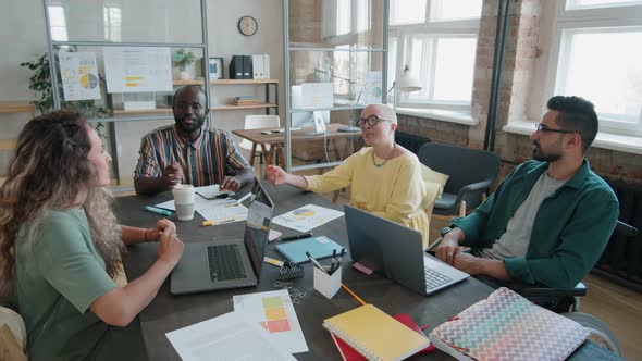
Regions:
M 77 49 L 74 47 L 70 51 L 77 51 Z M 51 87 L 51 73 L 49 71 L 49 55 L 47 53 L 44 53 L 36 57 L 36 60 L 23 62 L 20 64 L 20 66 L 27 67 L 33 72 L 32 76 L 29 77 L 29 89 L 34 90 L 37 99 L 32 101 L 32 103 L 36 105 L 36 110 L 40 114 L 45 114 L 53 110 L 53 92 Z M 58 54 L 55 54 L 55 61 L 58 62 Z M 59 71 L 58 67 L 55 71 Z M 101 80 L 104 80 L 102 76 L 99 75 L 99 77 Z M 62 84 L 59 84 L 59 94 L 62 94 Z M 94 100 L 62 100 L 60 103 L 60 108 L 82 113 L 87 119 L 107 116 L 107 111 L 101 107 L 96 107 Z M 102 138 L 102 140 L 107 141 L 107 135 L 104 134 L 104 124 L 102 122 L 97 122 L 92 125 L 98 135 Z

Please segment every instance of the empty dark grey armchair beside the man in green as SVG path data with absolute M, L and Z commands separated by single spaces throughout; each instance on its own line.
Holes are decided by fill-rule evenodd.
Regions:
M 427 142 L 418 157 L 431 170 L 449 175 L 434 214 L 457 214 L 462 201 L 469 209 L 478 207 L 499 173 L 499 157 L 483 150 Z

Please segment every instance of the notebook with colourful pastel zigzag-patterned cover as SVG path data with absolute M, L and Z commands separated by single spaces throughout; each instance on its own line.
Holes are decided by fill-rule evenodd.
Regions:
M 579 323 L 503 287 L 435 327 L 429 338 L 457 360 L 564 360 L 588 336 Z

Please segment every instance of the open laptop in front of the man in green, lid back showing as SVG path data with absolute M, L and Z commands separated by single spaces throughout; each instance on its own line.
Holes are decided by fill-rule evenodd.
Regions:
M 421 233 L 350 206 L 345 214 L 353 261 L 427 296 L 469 277 L 425 253 Z

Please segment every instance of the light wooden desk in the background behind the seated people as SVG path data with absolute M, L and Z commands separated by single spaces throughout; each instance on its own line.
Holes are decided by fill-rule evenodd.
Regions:
M 339 132 L 339 128 L 345 127 L 345 124 L 341 123 L 330 123 L 325 124 L 326 132 L 325 134 L 321 135 L 310 135 L 308 133 L 313 132 L 313 127 L 306 127 L 300 128 L 298 130 L 292 130 L 291 136 L 292 140 L 326 140 L 326 141 L 335 141 L 336 139 L 346 138 L 357 138 L 361 136 L 361 133 L 348 133 L 348 132 Z M 285 159 L 283 155 L 283 147 L 285 145 L 285 133 L 277 133 L 277 128 L 257 128 L 257 129 L 237 129 L 232 130 L 233 134 L 245 138 L 252 142 L 252 148 L 249 154 L 249 164 L 254 166 L 255 163 L 255 154 L 257 152 L 257 147 L 261 147 L 261 152 L 266 155 L 266 163 L 272 164 L 274 162 L 274 158 L 279 157 L 279 162 L 281 164 L 285 164 Z M 263 132 L 273 132 L 271 134 L 263 134 Z M 270 146 L 268 149 L 268 146 Z M 336 148 L 336 145 L 334 145 Z M 347 150 L 346 150 L 347 154 Z M 341 159 L 341 157 L 339 157 Z

